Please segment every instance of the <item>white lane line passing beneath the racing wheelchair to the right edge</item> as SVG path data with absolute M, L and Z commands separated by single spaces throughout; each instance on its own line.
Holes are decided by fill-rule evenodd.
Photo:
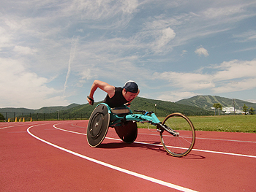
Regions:
M 54 128 L 57 128 L 61 131 L 67 131 L 73 134 L 82 134 L 79 132 L 75 132 L 75 131 L 68 131 L 66 129 L 62 129 L 62 128 L 58 128 L 56 127 L 56 125 L 53 125 Z M 83 134 L 86 135 L 86 134 Z M 112 139 L 112 140 L 117 140 L 117 141 L 121 141 L 121 139 L 115 139 L 115 138 L 111 138 L 111 137 L 105 137 L 105 139 Z M 157 144 L 151 144 L 151 143 L 147 143 L 147 142 L 134 142 L 134 143 L 138 143 L 138 144 L 143 144 L 143 145 L 154 145 L 154 146 L 159 146 L 162 147 L 162 145 L 157 145 Z M 171 146 L 169 146 L 171 147 Z M 226 153 L 226 152 L 220 152 L 220 151 L 214 151 L 214 150 L 199 150 L 199 149 L 192 149 L 194 151 L 200 151 L 200 152 L 206 152 L 206 153 L 217 153 L 217 154 L 222 154 L 222 155 L 235 155 L 235 156 L 241 156 L 241 157 L 249 157 L 249 158 L 256 158 L 255 155 L 244 155 L 244 154 L 239 154 L 239 153 Z

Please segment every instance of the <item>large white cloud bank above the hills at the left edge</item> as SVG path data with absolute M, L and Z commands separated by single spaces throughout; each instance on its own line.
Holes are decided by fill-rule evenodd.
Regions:
M 22 61 L 0 58 L 0 106 L 29 107 L 57 106 L 69 104 L 53 88 L 48 88 L 48 79 L 29 72 Z

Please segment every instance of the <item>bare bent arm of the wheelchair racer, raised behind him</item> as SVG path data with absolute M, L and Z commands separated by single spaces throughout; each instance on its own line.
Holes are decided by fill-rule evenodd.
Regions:
M 103 82 L 100 80 L 94 80 L 94 83 L 91 85 L 91 91 L 89 94 L 89 97 L 91 99 L 94 99 L 94 92 L 97 90 L 97 88 L 100 88 L 102 91 L 105 91 L 108 93 L 108 96 L 111 98 L 115 95 L 116 88 L 113 85 L 109 85 L 107 82 Z M 92 101 L 87 98 L 87 101 L 89 104 L 92 104 Z

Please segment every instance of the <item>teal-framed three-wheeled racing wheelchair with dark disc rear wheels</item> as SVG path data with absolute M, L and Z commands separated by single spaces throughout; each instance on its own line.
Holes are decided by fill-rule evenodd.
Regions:
M 101 103 L 91 113 L 87 127 L 87 141 L 91 147 L 99 146 L 113 127 L 118 137 L 127 143 L 135 141 L 138 135 L 137 123 L 149 123 L 156 126 L 160 134 L 162 146 L 167 153 L 175 157 L 187 155 L 195 145 L 195 128 L 187 116 L 175 112 L 160 122 L 154 112 L 135 110 L 134 114 L 129 107 L 110 108 Z

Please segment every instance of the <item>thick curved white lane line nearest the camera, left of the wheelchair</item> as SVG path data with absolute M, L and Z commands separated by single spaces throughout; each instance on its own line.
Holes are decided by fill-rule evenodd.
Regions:
M 34 125 L 34 126 L 37 126 L 37 125 Z M 139 174 L 139 173 L 136 173 L 136 172 L 132 172 L 132 171 L 129 171 L 129 170 L 127 170 L 127 169 L 123 169 L 123 168 L 118 167 L 118 166 L 114 166 L 114 165 L 111 165 L 111 164 L 107 164 L 107 163 L 102 162 L 102 161 L 99 161 L 99 160 L 97 160 L 97 159 L 87 157 L 86 155 L 81 155 L 80 153 L 75 153 L 75 152 L 72 151 L 72 150 L 68 150 L 68 149 L 66 149 L 66 148 L 64 148 L 64 147 L 60 147 L 60 146 L 55 145 L 55 144 L 53 144 L 53 143 L 51 143 L 51 142 L 45 141 L 44 139 L 41 139 L 41 138 L 35 136 L 34 134 L 31 134 L 31 132 L 29 131 L 29 129 L 32 128 L 32 127 L 34 127 L 34 126 L 30 126 L 29 128 L 27 128 L 27 132 L 28 132 L 32 137 L 38 139 L 38 140 L 41 141 L 41 142 L 45 142 L 45 143 L 48 144 L 48 145 L 51 145 L 51 146 L 53 146 L 53 147 L 56 147 L 56 148 L 58 148 L 59 150 L 64 150 L 64 151 L 66 151 L 67 153 L 71 153 L 72 155 L 77 155 L 77 156 L 80 157 L 80 158 L 84 158 L 84 159 L 86 159 L 86 160 L 88 160 L 88 161 L 92 161 L 92 162 L 94 162 L 94 163 L 96 163 L 96 164 L 100 164 L 100 165 L 106 166 L 106 167 L 108 167 L 108 168 L 110 168 L 110 169 L 115 169 L 115 170 L 117 170 L 117 171 L 119 171 L 119 172 L 123 172 L 123 173 L 126 173 L 126 174 L 130 174 L 130 175 L 132 175 L 132 176 L 139 177 L 139 178 L 141 178 L 141 179 L 143 179 L 143 180 L 148 180 L 148 181 L 150 181 L 150 182 L 157 183 L 157 184 L 159 184 L 159 185 L 164 185 L 164 186 L 169 187 L 169 188 L 174 188 L 174 189 L 176 189 L 176 190 L 178 190 L 178 191 L 186 191 L 186 192 L 190 192 L 190 191 L 192 192 L 192 191 L 194 191 L 194 190 L 189 189 L 189 188 L 184 188 L 184 187 L 181 187 L 181 186 L 179 186 L 179 185 L 174 185 L 174 184 L 172 184 L 172 183 L 167 183 L 167 182 L 162 181 L 162 180 L 157 180 L 157 179 L 155 179 L 155 178 L 153 178 L 153 177 L 148 177 L 148 176 L 146 176 L 146 175 Z M 55 125 L 54 125 L 54 126 L 55 126 Z M 68 132 L 72 132 L 72 131 L 68 131 Z

